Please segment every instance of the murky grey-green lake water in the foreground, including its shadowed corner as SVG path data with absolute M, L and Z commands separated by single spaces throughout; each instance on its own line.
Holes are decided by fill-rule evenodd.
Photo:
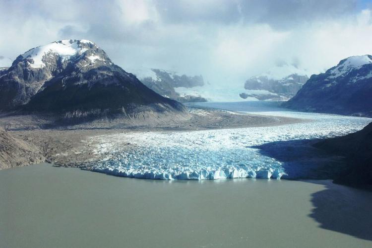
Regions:
M 0 247 L 372 247 L 372 193 L 330 181 L 0 171 Z

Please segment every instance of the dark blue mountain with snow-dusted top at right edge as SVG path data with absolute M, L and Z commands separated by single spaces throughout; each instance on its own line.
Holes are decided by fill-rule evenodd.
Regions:
M 372 56 L 352 56 L 312 75 L 284 106 L 346 115 L 372 116 Z

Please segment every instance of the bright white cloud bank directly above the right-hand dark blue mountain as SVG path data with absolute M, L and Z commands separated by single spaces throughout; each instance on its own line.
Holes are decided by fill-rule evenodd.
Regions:
M 366 9 L 343 20 L 315 22 L 294 30 L 287 51 L 313 73 L 324 71 L 340 60 L 372 54 L 371 11 Z

